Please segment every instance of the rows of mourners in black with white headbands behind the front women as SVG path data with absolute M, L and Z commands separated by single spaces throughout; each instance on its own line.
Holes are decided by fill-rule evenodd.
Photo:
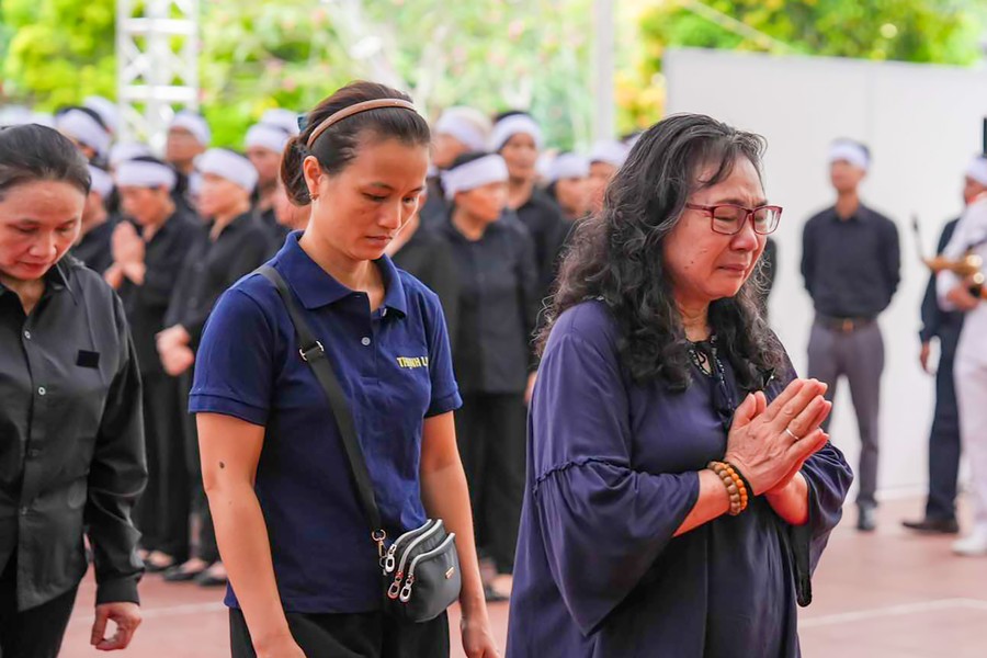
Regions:
M 147 145 L 114 140 L 115 109 L 104 99 L 50 121 L 86 157 L 93 181 L 70 254 L 117 291 L 134 336 L 149 470 L 134 518 L 148 571 L 169 581 L 226 582 L 189 390 L 222 293 L 308 225 L 309 200 L 293 203 L 280 180 L 299 118 L 268 111 L 234 150 L 211 147 L 205 118 L 182 111 L 160 159 Z M 464 396 L 456 429 L 489 567 L 487 597 L 504 600 L 523 491 L 531 337 L 572 226 L 602 206 L 629 146 L 546 152 L 531 115 L 491 120 L 465 106 L 446 110 L 433 136 L 421 211 L 386 251 L 442 302 Z

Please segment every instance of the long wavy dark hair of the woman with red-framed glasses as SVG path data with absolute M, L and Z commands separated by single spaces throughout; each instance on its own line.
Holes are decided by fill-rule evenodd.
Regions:
M 559 315 L 599 298 L 616 320 L 617 349 L 632 379 L 660 381 L 673 390 L 688 387 L 689 343 L 672 296 L 663 242 L 692 193 L 728 178 L 738 158 L 747 158 L 760 172 L 764 147 L 763 137 L 699 114 L 669 116 L 642 135 L 606 189 L 601 213 L 576 229 L 541 348 Z M 713 177 L 700 181 L 700 173 L 711 166 L 717 167 Z M 759 307 L 761 269 L 735 297 L 710 305 L 719 349 L 745 390 L 761 388 L 762 373 L 786 363 Z

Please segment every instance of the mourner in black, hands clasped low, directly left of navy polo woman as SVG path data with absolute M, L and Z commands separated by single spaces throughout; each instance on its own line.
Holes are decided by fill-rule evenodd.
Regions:
M 198 207 L 209 224 L 200 228 L 181 268 L 168 313 L 166 329 L 158 334 L 158 354 L 164 372 L 181 377 L 179 405 L 189 408 L 192 364 L 213 305 L 226 288 L 259 268 L 271 250 L 270 236 L 250 207 L 257 170 L 250 161 L 226 149 L 209 149 L 196 164 L 202 175 Z M 182 412 L 185 455 L 193 488 L 193 513 L 201 521 L 196 553 L 188 561 L 164 571 L 170 581 L 195 580 L 203 586 L 223 585 L 226 571 L 219 561 L 208 502 L 202 489 L 198 436 L 193 419 Z

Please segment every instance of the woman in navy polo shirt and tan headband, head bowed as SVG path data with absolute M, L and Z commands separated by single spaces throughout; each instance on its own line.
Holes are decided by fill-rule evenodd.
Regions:
M 390 102 L 353 107 L 374 100 Z M 429 139 L 407 97 L 387 87 L 354 82 L 322 101 L 282 166 L 311 217 L 270 264 L 325 343 L 387 534 L 427 515 L 455 532 L 463 645 L 492 657 L 442 308 L 384 256 L 418 207 Z M 377 554 L 336 423 L 263 276 L 242 279 L 213 310 L 190 408 L 229 571 L 234 656 L 449 655 L 444 614 L 411 624 L 381 610 Z

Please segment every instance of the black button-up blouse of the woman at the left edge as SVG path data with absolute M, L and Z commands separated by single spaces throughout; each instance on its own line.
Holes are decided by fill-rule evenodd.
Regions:
M 140 375 L 123 305 L 72 257 L 30 316 L 0 284 L 0 568 L 18 608 L 69 591 L 92 544 L 97 603 L 137 601 L 131 509 L 147 481 Z

